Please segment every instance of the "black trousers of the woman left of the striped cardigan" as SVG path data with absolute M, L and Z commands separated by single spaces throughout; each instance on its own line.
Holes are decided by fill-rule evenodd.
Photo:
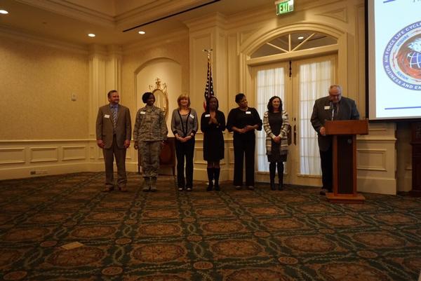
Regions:
M 243 185 L 243 158 L 246 156 L 246 186 L 254 186 L 255 137 L 234 137 L 234 186 Z

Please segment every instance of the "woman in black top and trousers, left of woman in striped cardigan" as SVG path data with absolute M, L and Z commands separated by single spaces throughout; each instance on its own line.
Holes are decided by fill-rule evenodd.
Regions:
M 258 111 L 248 107 L 246 96 L 239 93 L 235 96 L 239 107 L 231 109 L 228 114 L 227 129 L 234 132 L 234 186 L 241 189 L 243 185 L 243 156 L 246 156 L 246 186 L 254 189 L 255 165 L 255 130 L 262 130 L 262 119 Z

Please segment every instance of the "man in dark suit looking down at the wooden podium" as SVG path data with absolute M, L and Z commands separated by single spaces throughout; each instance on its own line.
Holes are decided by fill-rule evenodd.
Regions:
M 323 182 L 323 187 L 320 191 L 321 195 L 332 192 L 333 186 L 332 136 L 326 135 L 325 121 L 358 119 L 359 113 L 354 100 L 342 97 L 340 85 L 331 85 L 329 87 L 329 95 L 321 97 L 314 102 L 310 121 L 317 132 L 317 141 L 319 142 L 321 181 Z

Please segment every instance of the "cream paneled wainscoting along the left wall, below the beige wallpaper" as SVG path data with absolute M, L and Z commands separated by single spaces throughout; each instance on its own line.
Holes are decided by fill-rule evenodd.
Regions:
M 95 139 L 0 140 L 0 179 L 103 171 L 102 150 L 95 144 Z M 137 159 L 126 158 L 126 170 L 137 172 Z

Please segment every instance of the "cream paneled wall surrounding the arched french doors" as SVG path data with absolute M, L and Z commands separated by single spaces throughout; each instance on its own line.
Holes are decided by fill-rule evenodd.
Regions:
M 362 0 L 349 1 L 298 1 L 294 13 L 276 17 L 273 10 L 249 11 L 224 18 L 218 14 L 192 19 L 187 22 L 190 30 L 190 74 L 192 89 L 201 88 L 201 81 L 192 78 L 203 67 L 201 48 L 213 48 L 213 62 L 217 74 L 214 76 L 220 92 L 229 92 L 227 99 L 220 99 L 225 108 L 235 107 L 234 94 L 245 92 L 249 104 L 254 104 L 254 65 L 271 64 L 289 60 L 314 57 L 313 50 L 301 53 L 287 53 L 252 59 L 250 55 L 265 42 L 298 30 L 311 30 L 328 34 L 338 40 L 335 50 L 326 50 L 338 56 L 338 77 L 336 83 L 342 85 L 345 95 L 356 100 L 361 117 L 365 116 L 365 57 L 364 57 L 364 4 Z M 208 46 L 206 46 L 208 45 Z M 196 48 L 199 47 L 199 48 Z M 218 76 L 219 74 L 227 74 Z M 222 85 L 220 84 L 222 82 Z M 221 91 L 222 90 L 222 91 Z M 227 90 L 227 91 L 226 91 Z M 396 138 L 395 124 L 371 124 L 368 136 L 359 137 L 357 144 L 357 189 L 362 192 L 396 193 Z M 196 142 L 200 146 L 200 139 Z M 225 135 L 227 153 L 222 166 L 222 179 L 232 179 L 232 140 Z M 290 150 L 297 147 L 290 146 Z M 199 153 L 196 153 L 199 154 Z M 296 153 L 298 155 L 298 153 Z M 205 177 L 205 167 L 200 156 L 195 158 L 195 178 Z M 321 185 L 319 176 L 298 177 L 312 184 Z M 258 181 L 268 181 L 267 174 L 258 174 Z M 288 182 L 287 182 L 288 183 Z M 294 182 L 295 184 L 300 184 Z

